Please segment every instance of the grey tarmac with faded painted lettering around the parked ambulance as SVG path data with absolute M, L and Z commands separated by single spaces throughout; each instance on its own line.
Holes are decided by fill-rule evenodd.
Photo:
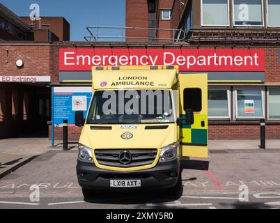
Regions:
M 176 197 L 98 192 L 84 200 L 75 173 L 77 151 L 48 151 L 0 179 L 0 208 L 280 208 L 279 155 L 212 151 L 206 160 L 184 163 L 183 191 Z

